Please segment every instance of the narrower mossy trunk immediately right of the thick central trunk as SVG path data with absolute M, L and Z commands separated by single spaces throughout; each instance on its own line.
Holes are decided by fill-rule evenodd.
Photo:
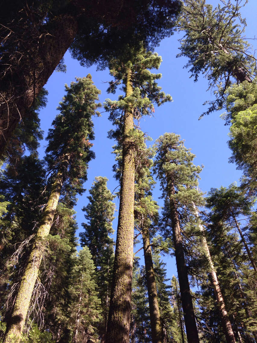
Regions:
M 160 321 L 160 311 L 158 305 L 157 288 L 155 282 L 154 265 L 152 263 L 152 252 L 150 246 L 149 232 L 147 228 L 142 228 L 143 249 L 145 258 L 146 283 L 149 301 L 150 322 L 152 343 L 162 343 L 162 330 Z

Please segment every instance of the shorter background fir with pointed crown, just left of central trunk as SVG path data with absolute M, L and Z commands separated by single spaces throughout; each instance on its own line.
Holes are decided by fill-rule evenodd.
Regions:
M 112 266 L 114 260 L 114 241 L 110 238 L 113 233 L 112 221 L 115 205 L 114 196 L 107 188 L 107 178 L 98 176 L 89 190 L 89 203 L 84 206 L 85 218 L 88 223 L 82 223 L 85 231 L 81 232 L 82 247 L 87 246 L 92 254 L 96 267 L 95 281 L 101 299 L 102 316 L 104 322 L 98 323 L 98 331 L 105 340 L 109 310 L 110 288 L 112 280 Z

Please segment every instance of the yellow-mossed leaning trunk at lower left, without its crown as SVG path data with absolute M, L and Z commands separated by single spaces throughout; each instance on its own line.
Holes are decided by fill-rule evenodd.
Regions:
M 24 274 L 22 276 L 19 290 L 13 306 L 10 320 L 7 323 L 3 343 L 19 343 L 23 331 L 27 311 L 38 275 L 39 266 L 44 253 L 44 239 L 49 235 L 53 217 L 62 189 L 63 173 L 57 174 L 56 180 L 52 185 L 48 203 L 42 216 L 42 224 L 38 228 L 35 242 L 30 252 Z

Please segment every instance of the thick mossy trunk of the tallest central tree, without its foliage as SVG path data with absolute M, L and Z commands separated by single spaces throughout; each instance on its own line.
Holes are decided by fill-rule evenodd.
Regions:
M 131 70 L 127 72 L 126 96 L 133 92 Z M 126 110 L 123 124 L 122 177 L 113 282 L 107 325 L 107 343 L 127 343 L 130 332 L 132 264 L 134 238 L 134 128 L 133 109 Z

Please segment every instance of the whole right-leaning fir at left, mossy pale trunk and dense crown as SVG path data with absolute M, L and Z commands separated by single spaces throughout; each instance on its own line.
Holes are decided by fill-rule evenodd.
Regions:
M 61 114 L 53 121 L 54 129 L 49 130 L 47 137 L 46 162 L 52 172 L 51 190 L 21 278 L 4 343 L 11 342 L 14 337 L 20 341 L 45 247 L 44 240 L 49 234 L 61 192 L 66 192 L 66 197 L 75 202 L 75 195 L 83 192 L 88 162 L 94 157 L 89 142 L 94 138 L 91 116 L 99 106 L 95 101 L 100 91 L 89 78 L 76 81 L 71 83 L 71 87 L 65 86 L 67 94 L 58 107 Z

